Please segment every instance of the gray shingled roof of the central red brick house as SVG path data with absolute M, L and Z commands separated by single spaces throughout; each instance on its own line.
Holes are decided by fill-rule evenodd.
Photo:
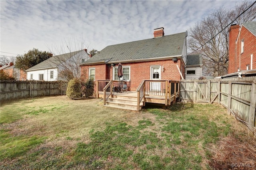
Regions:
M 152 39 L 109 45 L 84 63 L 132 61 L 182 55 L 186 32 Z M 81 64 L 84 64 L 81 63 Z

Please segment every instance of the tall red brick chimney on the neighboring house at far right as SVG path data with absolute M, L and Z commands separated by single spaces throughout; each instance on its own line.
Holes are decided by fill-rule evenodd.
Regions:
M 236 56 L 236 39 L 239 33 L 239 25 L 231 25 L 229 28 L 229 49 L 228 49 L 228 74 L 237 72 L 237 65 L 239 65 L 239 56 Z

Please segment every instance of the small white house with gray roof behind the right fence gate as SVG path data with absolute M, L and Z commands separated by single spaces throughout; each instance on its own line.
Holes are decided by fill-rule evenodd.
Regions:
M 186 65 L 186 79 L 198 79 L 202 77 L 202 55 L 188 55 Z

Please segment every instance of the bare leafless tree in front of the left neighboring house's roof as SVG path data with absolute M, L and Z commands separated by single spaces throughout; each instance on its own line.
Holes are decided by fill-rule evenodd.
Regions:
M 54 55 L 49 62 L 58 65 L 58 79 L 71 80 L 80 78 L 80 66 L 83 61 L 88 60 L 87 49 L 84 39 L 64 39 L 60 46 L 53 45 L 48 49 Z M 50 64 L 50 63 L 49 63 Z

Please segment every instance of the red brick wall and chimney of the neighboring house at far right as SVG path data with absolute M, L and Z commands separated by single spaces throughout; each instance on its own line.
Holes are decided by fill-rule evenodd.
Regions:
M 238 25 L 234 25 L 238 26 Z M 231 29 L 232 27 L 230 27 Z M 232 29 L 229 36 L 229 66 L 228 74 L 240 70 L 246 70 L 249 64 L 251 69 L 251 55 L 253 55 L 252 69 L 256 69 L 256 37 L 248 31 L 245 27 L 241 28 L 240 37 L 238 36 L 239 29 Z M 236 43 L 236 39 L 238 41 Z M 244 39 L 244 53 L 241 53 L 241 40 Z M 241 61 L 240 61 L 241 59 Z M 240 66 L 241 64 L 241 66 Z

